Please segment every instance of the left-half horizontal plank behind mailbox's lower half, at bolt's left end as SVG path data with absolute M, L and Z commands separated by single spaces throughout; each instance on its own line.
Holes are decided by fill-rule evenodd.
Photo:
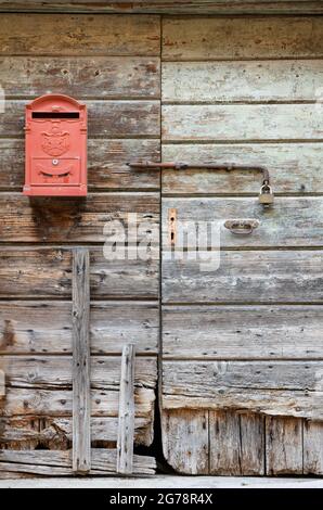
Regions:
M 159 161 L 159 140 L 88 140 L 89 190 L 159 188 L 159 173 L 130 168 L 129 161 Z M 25 142 L 0 139 L 0 189 L 21 191 L 25 180 Z

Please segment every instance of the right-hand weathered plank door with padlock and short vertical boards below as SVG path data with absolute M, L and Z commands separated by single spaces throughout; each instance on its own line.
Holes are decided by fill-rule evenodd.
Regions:
M 322 17 L 163 21 L 163 161 L 190 164 L 162 176 L 163 444 L 179 473 L 323 473 L 322 37 Z M 273 205 L 256 171 L 198 164 L 267 167 Z

